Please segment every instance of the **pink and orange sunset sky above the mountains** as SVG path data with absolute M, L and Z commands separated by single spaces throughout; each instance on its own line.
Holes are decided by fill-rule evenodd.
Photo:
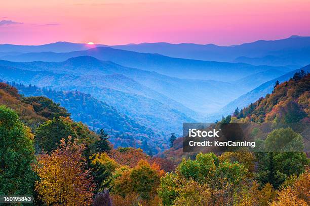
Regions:
M 0 43 L 231 45 L 290 35 L 310 36 L 310 0 L 3 0 L 0 7 Z

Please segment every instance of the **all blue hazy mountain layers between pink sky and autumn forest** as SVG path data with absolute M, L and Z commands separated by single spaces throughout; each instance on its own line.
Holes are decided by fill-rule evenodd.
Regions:
M 79 99 L 89 99 L 94 105 L 87 110 L 92 113 L 87 120 L 91 128 L 101 125 L 120 132 L 117 124 L 124 123 L 126 134 L 136 131 L 138 136 L 161 136 L 165 141 L 170 133 L 181 133 L 183 122 L 215 121 L 271 92 L 276 80 L 283 82 L 310 63 L 309 50 L 310 37 L 299 36 L 236 46 L 3 44 L 0 79 L 60 92 L 50 95 L 40 88 L 37 92 L 30 89 L 27 95 L 50 95 L 68 107 L 76 121 L 82 120 L 79 113 L 87 115 Z M 70 104 L 62 100 L 65 96 Z M 120 121 L 107 127 L 105 119 L 93 115 L 96 109 Z M 121 142 L 128 143 L 128 139 Z M 148 141 L 157 144 L 152 138 Z

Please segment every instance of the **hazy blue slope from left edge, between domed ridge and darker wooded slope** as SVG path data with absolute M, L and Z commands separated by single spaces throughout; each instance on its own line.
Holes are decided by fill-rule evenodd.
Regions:
M 176 109 L 177 106 L 174 106 L 180 105 L 186 112 L 192 112 L 191 110 L 164 95 L 159 95 L 158 98 L 163 98 L 163 101 L 167 101 L 166 104 L 154 99 L 155 97 L 149 98 L 142 94 L 133 93 L 134 89 L 137 91 L 141 89 L 139 90 L 141 93 L 151 92 L 151 94 L 156 95 L 155 91 L 151 91 L 122 75 L 76 76 L 48 71 L 21 70 L 7 66 L 0 66 L 0 71 L 0 79 L 9 82 L 14 81 L 25 85 L 32 84 L 56 90 L 79 90 L 90 93 L 99 100 L 105 101 L 108 105 L 114 106 L 119 112 L 134 119 L 140 125 L 153 128 L 153 130 L 159 131 L 161 134 L 173 131 L 180 132 L 182 122 L 195 122 L 195 119 L 180 112 Z M 113 85 L 114 88 L 117 87 L 119 90 L 109 88 L 110 85 Z M 123 86 L 127 88 L 123 88 Z M 131 86 L 132 88 L 130 88 Z M 132 89 L 132 92 L 122 91 L 125 89 Z M 195 114 L 195 112 L 192 113 Z

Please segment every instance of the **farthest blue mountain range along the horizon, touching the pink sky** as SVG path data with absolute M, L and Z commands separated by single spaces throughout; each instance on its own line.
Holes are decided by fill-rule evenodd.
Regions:
M 56 42 L 56 43 L 33 45 L 33 46 L 0 44 L 0 57 L 5 57 L 5 60 L 13 60 L 12 57 L 10 56 L 18 56 L 21 53 L 41 53 L 41 52 L 68 53 L 78 50 L 88 50 L 90 48 L 100 46 L 107 46 L 107 45 L 104 44 L 90 45 L 86 43 L 71 43 L 71 42 Z M 295 69 L 297 67 L 305 66 L 310 63 L 309 62 L 310 37 L 307 36 L 303 37 L 296 35 L 293 35 L 286 39 L 258 40 L 255 42 L 243 43 L 241 45 L 234 45 L 234 46 L 217 46 L 214 44 L 193 44 L 193 43 L 171 44 L 171 43 L 159 42 L 159 43 L 140 43 L 140 44 L 126 44 L 126 45 L 109 45 L 108 47 L 138 53 L 161 54 L 164 56 L 174 58 L 204 60 L 204 61 L 220 61 L 220 62 L 240 62 L 253 65 L 289 66 Z M 49 54 L 42 54 L 42 55 L 48 56 Z M 34 59 L 24 59 L 23 57 L 26 58 L 29 56 L 26 55 L 18 57 L 16 61 L 35 61 Z M 69 57 L 66 58 L 68 59 Z M 65 59 L 57 61 L 64 61 L 64 60 Z M 50 60 L 41 59 L 41 61 L 50 61 Z

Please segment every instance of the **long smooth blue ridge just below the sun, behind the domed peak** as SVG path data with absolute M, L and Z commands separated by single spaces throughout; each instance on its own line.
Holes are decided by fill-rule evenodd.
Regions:
M 287 67 L 253 66 L 243 63 L 171 58 L 159 54 L 137 53 L 110 47 L 96 47 L 69 53 L 27 53 L 17 56 L 0 57 L 0 59 L 14 62 L 62 62 L 69 58 L 80 56 L 91 56 L 99 60 L 112 61 L 125 67 L 154 71 L 182 79 L 235 81 L 245 76 L 270 69 L 285 72 L 292 70 Z

